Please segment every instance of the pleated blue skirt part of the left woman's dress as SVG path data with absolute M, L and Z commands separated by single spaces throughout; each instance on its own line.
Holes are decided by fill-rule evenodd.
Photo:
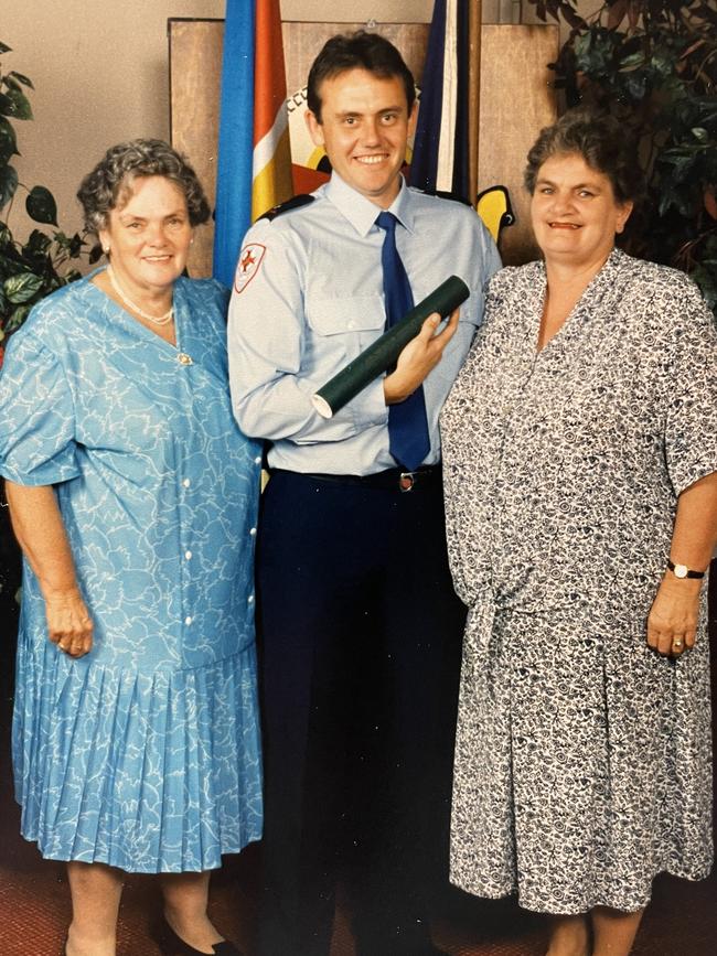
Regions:
M 261 836 L 254 644 L 145 674 L 21 641 L 17 688 L 21 829 L 43 857 L 203 871 Z

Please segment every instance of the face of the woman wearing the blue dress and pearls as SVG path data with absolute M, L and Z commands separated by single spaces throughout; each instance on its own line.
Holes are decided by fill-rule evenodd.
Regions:
M 186 265 L 192 232 L 182 191 L 164 176 L 141 176 L 125 204 L 110 211 L 99 238 L 131 294 L 171 287 Z

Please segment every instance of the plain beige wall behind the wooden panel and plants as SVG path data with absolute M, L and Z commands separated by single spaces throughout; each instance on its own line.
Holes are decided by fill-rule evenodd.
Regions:
M 111 143 L 169 136 L 167 20 L 223 18 L 224 0 L 1 0 L 2 67 L 35 85 L 35 119 L 18 122 L 20 179 L 47 186 L 61 226 L 79 227 L 75 191 Z M 484 0 L 494 20 L 510 0 Z M 286 20 L 425 22 L 432 0 L 282 0 Z M 526 19 L 528 19 L 526 17 Z M 26 228 L 23 202 L 10 223 Z

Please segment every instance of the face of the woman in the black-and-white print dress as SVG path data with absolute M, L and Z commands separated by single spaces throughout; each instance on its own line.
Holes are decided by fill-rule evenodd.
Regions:
M 547 262 L 601 265 L 631 211 L 632 203 L 618 203 L 608 176 L 577 153 L 550 157 L 538 170 L 531 218 Z

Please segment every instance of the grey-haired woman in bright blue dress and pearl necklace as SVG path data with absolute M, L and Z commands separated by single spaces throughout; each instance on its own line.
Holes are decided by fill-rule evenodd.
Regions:
M 114 956 L 121 871 L 163 874 L 163 952 L 228 956 L 206 899 L 261 831 L 259 448 L 229 406 L 226 290 L 182 277 L 208 217 L 192 169 L 136 140 L 78 196 L 110 265 L 32 311 L 0 378 L 22 833 L 67 861 L 67 956 Z

